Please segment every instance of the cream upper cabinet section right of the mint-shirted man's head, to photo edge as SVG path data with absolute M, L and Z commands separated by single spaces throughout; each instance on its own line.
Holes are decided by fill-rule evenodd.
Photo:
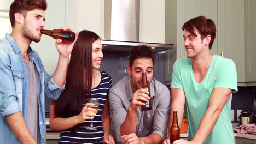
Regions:
M 236 64 L 237 85 L 256 86 L 256 2 L 218 3 L 218 55 Z

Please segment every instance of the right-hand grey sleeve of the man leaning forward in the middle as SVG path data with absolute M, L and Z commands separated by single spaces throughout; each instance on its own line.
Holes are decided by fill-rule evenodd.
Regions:
M 170 116 L 170 91 L 168 88 L 164 87 L 158 97 L 158 107 L 155 110 L 152 133 L 159 134 L 162 140 L 165 140 Z

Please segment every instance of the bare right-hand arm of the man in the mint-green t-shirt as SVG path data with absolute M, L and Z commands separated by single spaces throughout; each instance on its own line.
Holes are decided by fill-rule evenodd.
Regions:
M 209 101 L 209 107 L 203 115 L 199 128 L 191 140 L 193 143 L 203 143 L 216 124 L 223 107 L 228 102 L 232 89 L 214 88 Z

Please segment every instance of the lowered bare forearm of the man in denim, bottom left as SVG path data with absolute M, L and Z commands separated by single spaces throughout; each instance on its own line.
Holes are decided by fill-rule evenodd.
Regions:
M 28 130 L 26 127 L 26 123 L 21 112 L 16 112 L 13 115 L 9 115 L 5 118 L 9 123 L 11 130 L 13 130 L 14 134 L 21 143 L 37 143 L 33 139 L 30 130 Z

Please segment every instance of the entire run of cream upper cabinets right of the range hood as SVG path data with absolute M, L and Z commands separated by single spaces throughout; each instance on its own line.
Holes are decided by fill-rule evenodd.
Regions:
M 210 6 L 210 7 L 209 7 Z M 176 58 L 186 57 L 183 23 L 200 15 L 212 19 L 217 28 L 211 53 L 232 59 L 238 86 L 256 86 L 256 2 L 253 0 L 182 0 L 166 2 L 166 43 L 177 48 Z M 177 37 L 177 38 L 174 38 Z M 172 80 L 172 59 L 166 51 L 166 85 Z

